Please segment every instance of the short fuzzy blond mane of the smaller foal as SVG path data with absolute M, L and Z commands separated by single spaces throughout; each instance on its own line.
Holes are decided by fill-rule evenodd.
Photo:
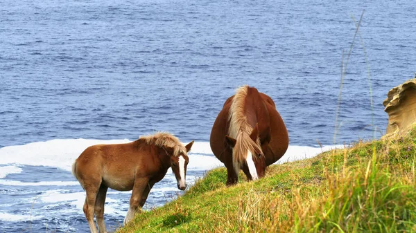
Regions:
M 139 139 L 143 139 L 148 145 L 171 147 L 175 157 L 180 156 L 181 153 L 187 154 L 187 149 L 182 145 L 182 142 L 168 132 L 157 132 L 154 135 L 140 136 Z

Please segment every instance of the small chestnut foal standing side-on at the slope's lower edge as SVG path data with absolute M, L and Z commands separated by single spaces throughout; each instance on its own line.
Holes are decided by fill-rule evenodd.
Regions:
M 95 213 L 98 230 L 106 232 L 103 216 L 109 187 L 119 191 L 133 190 L 124 224 L 135 213 L 141 212 L 150 189 L 164 178 L 169 167 L 175 174 L 177 188 L 184 190 L 187 187 L 187 153 L 192 145 L 193 141 L 182 145 L 170 133 L 155 133 L 130 143 L 94 145 L 85 149 L 73 162 L 72 173 L 87 192 L 83 210 L 89 230 L 97 232 Z

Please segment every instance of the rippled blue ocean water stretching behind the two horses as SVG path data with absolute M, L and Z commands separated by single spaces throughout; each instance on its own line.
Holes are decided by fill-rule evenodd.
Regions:
M 343 50 L 346 57 L 356 30 L 352 16 L 358 21 L 363 10 L 333 141 Z M 275 100 L 291 145 L 370 139 L 372 118 L 379 138 L 388 122 L 386 94 L 416 71 L 415 12 L 411 0 L 3 0 L 0 149 L 58 139 L 135 140 L 155 131 L 207 142 L 223 102 L 243 84 Z M 78 185 L 33 185 L 72 182 L 69 171 L 0 159 L 8 174 L 0 178 L 0 232 L 88 229 L 82 213 L 64 211 L 71 203 L 45 205 L 51 192 L 65 198 L 81 192 Z M 51 169 L 59 176 L 32 180 Z M 111 195 L 128 203 L 128 194 Z M 44 199 L 38 205 L 33 196 Z M 53 217 L 19 218 L 30 215 L 31 201 L 36 214 Z M 116 227 L 122 218 L 110 222 Z

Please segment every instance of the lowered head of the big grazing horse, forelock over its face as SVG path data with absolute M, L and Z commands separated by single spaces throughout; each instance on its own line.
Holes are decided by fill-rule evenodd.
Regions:
M 265 175 L 266 159 L 261 150 L 257 124 L 250 136 L 240 131 L 235 139 L 225 136 L 225 141 L 232 148 L 232 162 L 236 174 L 242 169 L 249 180 L 257 180 Z

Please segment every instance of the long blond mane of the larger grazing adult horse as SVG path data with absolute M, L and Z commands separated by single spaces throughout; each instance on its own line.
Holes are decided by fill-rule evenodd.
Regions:
M 228 114 L 228 135 L 231 138 L 236 139 L 236 145 L 232 150 L 235 168 L 236 166 L 239 167 L 239 164 L 245 160 L 248 150 L 252 153 L 256 151 L 255 149 L 257 149 L 257 151 L 261 151 L 261 148 L 259 147 L 259 138 L 257 138 L 257 143 L 254 143 L 250 138 L 253 127 L 248 124 L 247 116 L 245 115 L 245 99 L 248 95 L 248 88 L 249 86 L 245 85 L 240 86 L 236 90 L 236 94 L 234 95 Z M 257 156 L 253 157 L 257 158 Z

